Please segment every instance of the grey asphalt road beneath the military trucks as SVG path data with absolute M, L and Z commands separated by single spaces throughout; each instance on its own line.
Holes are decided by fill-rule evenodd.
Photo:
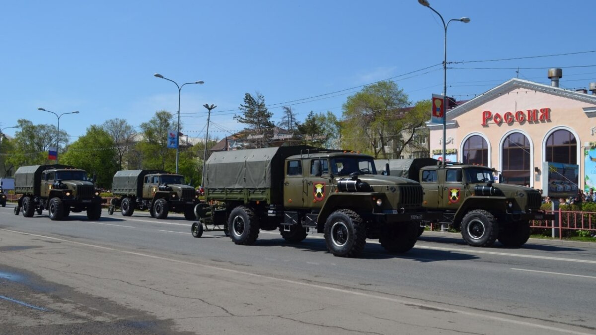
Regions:
M 465 245 L 425 232 L 358 259 L 322 234 L 286 243 L 135 212 L 50 221 L 0 208 L 1 334 L 594 334 L 596 246 L 530 240 Z

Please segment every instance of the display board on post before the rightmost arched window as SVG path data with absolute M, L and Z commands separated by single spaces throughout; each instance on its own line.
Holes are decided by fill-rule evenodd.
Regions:
M 578 195 L 579 165 L 542 163 L 542 196 L 569 198 Z

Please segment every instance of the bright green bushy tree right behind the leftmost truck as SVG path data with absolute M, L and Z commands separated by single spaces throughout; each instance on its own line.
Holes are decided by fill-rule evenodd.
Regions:
M 85 135 L 69 145 L 60 163 L 86 170 L 89 176 L 95 175 L 98 187 L 110 189 L 118 170 L 116 145 L 101 126 L 91 125 Z

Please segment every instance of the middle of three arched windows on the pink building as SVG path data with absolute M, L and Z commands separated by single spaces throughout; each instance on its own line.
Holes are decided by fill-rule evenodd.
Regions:
M 503 178 L 509 184 L 530 184 L 530 141 L 514 132 L 505 138 L 502 147 Z

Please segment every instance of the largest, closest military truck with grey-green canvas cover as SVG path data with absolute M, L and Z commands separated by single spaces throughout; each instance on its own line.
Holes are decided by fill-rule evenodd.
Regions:
M 213 153 L 206 162 L 205 200 L 192 232 L 225 225 L 235 244 L 253 244 L 259 229 L 279 229 L 290 242 L 324 233 L 335 256 L 358 256 L 366 238 L 390 252 L 410 250 L 429 214 L 418 182 L 377 175 L 373 157 L 306 146 Z M 209 205 L 208 203 L 212 203 Z

